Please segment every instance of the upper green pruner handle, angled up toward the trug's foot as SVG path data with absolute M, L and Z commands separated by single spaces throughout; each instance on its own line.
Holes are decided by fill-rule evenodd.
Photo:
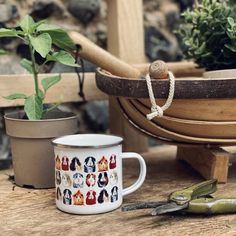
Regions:
M 177 205 L 184 205 L 191 200 L 207 196 L 214 193 L 217 189 L 217 180 L 207 180 L 199 184 L 194 184 L 183 190 L 173 192 L 169 196 L 169 201 L 175 202 Z

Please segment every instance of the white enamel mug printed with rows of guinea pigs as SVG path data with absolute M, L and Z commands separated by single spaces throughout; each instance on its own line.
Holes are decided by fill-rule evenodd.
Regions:
M 142 156 L 122 153 L 123 139 L 112 135 L 77 134 L 52 141 L 55 152 L 56 205 L 73 214 L 112 211 L 123 196 L 144 182 L 146 164 Z M 138 180 L 123 189 L 122 159 L 138 159 Z

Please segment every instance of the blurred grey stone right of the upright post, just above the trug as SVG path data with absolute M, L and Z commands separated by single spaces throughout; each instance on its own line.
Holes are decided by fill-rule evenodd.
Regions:
M 176 61 L 179 58 L 176 37 L 164 29 L 145 27 L 145 52 L 150 61 Z

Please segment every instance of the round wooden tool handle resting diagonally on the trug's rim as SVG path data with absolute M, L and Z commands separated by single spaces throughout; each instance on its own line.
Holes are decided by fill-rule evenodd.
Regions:
M 98 47 L 95 43 L 91 42 L 83 35 L 74 31 L 70 32 L 69 35 L 76 44 L 81 46 L 79 55 L 82 58 L 91 61 L 95 65 L 109 71 L 113 75 L 128 78 L 140 77 L 139 70 Z

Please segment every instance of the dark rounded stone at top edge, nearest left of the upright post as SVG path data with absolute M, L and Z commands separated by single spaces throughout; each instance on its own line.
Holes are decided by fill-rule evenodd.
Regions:
M 100 10 L 100 0 L 69 0 L 68 11 L 81 23 L 88 24 Z

